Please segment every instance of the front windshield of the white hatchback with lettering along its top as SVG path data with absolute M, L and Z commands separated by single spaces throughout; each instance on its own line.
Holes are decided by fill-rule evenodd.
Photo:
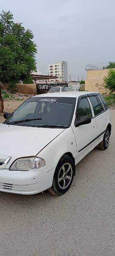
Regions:
M 69 127 L 75 109 L 76 98 L 32 97 L 18 107 L 4 124 Z

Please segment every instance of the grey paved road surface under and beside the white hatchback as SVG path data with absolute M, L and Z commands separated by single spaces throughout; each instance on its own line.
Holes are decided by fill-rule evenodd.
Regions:
M 115 256 L 115 110 L 106 151 L 77 166 L 66 195 L 0 193 L 0 256 Z

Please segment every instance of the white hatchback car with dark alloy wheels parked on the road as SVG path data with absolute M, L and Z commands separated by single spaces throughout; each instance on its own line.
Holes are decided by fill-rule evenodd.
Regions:
M 0 124 L 0 191 L 63 195 L 75 166 L 109 145 L 111 118 L 99 93 L 47 93 L 27 99 Z

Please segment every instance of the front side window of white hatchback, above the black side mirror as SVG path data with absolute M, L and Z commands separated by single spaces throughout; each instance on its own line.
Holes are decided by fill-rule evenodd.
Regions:
M 87 98 L 81 99 L 78 105 L 77 118 L 79 119 L 81 116 L 89 116 L 92 118 L 92 111 Z

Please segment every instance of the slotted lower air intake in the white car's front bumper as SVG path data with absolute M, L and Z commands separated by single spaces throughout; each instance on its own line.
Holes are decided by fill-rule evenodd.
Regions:
M 25 191 L 27 185 L 14 185 L 9 183 L 0 183 L 0 189 L 2 190 L 12 190 L 12 191 Z

